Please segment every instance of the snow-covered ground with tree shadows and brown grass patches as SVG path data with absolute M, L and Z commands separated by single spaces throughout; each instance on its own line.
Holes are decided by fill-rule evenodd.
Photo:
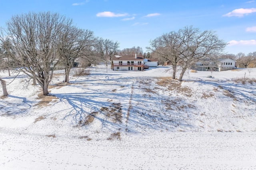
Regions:
M 256 69 L 88 69 L 47 97 L 0 73 L 0 169 L 256 169 Z

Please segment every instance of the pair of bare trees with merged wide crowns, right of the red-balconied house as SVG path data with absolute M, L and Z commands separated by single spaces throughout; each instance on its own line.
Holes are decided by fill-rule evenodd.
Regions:
M 212 58 L 222 54 L 226 43 L 218 39 L 214 31 L 200 31 L 193 26 L 171 31 L 152 41 L 147 49 L 158 53 L 172 64 L 173 75 L 176 76 L 177 65 L 182 68 L 178 80 L 182 81 L 187 68 L 205 58 Z

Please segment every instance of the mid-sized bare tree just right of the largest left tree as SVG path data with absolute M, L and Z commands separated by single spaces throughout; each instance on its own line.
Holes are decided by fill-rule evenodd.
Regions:
M 69 74 L 72 66 L 74 66 L 74 61 L 78 57 L 89 55 L 86 51 L 90 51 L 90 47 L 95 41 L 92 31 L 78 29 L 71 24 L 66 25 L 58 42 L 59 58 L 65 67 L 64 82 L 69 82 Z

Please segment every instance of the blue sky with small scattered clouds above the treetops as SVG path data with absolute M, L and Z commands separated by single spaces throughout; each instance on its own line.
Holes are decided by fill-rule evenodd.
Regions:
M 230 43 L 226 53 L 256 51 L 254 0 L 1 0 L 0 26 L 13 15 L 58 12 L 95 36 L 120 43 L 120 49 L 140 46 L 150 39 L 193 25 L 214 30 Z

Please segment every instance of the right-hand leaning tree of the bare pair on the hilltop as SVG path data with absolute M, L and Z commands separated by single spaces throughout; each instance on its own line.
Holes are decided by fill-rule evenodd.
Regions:
M 218 39 L 218 35 L 214 31 L 200 31 L 192 26 L 184 27 L 178 31 L 182 47 L 180 49 L 180 58 L 182 59 L 182 71 L 179 81 L 187 68 L 204 58 L 213 58 L 223 53 L 227 43 Z

